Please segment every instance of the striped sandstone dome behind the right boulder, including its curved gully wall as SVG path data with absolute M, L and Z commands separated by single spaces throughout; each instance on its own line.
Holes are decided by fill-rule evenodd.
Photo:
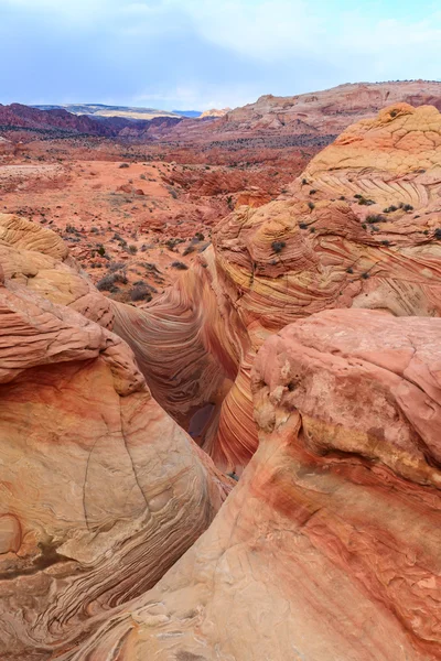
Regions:
M 440 197 L 440 112 L 381 110 L 288 194 L 227 216 L 201 264 L 143 311 L 117 313 L 116 329 L 181 424 L 205 408 L 198 442 L 239 473 L 257 447 L 249 372 L 269 334 L 334 307 L 439 316 Z

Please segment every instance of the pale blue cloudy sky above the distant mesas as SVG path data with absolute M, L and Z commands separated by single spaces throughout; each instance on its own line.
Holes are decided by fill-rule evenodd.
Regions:
M 204 110 L 441 79 L 429 0 L 0 0 L 0 102 Z

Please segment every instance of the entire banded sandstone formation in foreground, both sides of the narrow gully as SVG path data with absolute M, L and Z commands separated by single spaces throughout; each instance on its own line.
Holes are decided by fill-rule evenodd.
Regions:
M 441 660 L 440 197 L 396 104 L 142 307 L 0 217 L 0 655 Z

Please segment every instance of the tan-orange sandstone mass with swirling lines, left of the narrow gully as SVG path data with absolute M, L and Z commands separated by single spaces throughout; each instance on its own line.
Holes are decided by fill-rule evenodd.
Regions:
M 0 658 L 31 661 L 154 585 L 230 487 L 54 232 L 2 216 L 0 262 Z

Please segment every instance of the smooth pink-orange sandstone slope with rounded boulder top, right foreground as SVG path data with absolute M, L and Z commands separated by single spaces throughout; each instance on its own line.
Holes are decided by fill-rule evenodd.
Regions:
M 441 659 L 440 347 L 441 319 L 378 311 L 273 335 L 238 487 L 152 590 L 61 659 Z

